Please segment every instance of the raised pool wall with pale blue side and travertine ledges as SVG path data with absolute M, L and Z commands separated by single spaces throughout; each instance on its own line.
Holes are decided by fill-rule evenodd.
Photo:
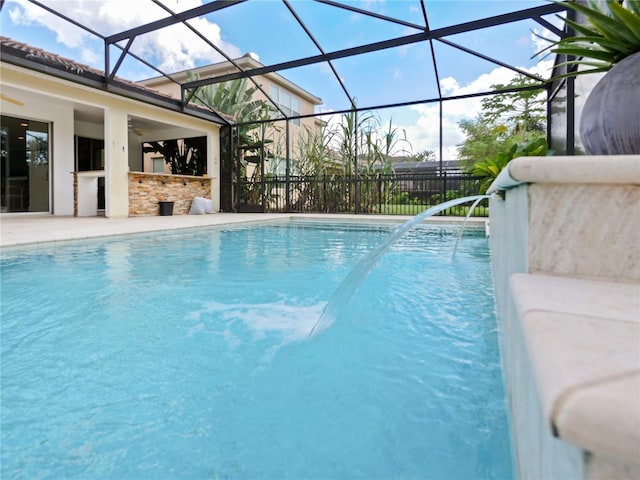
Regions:
M 494 187 L 516 477 L 638 479 L 640 156 L 518 158 Z

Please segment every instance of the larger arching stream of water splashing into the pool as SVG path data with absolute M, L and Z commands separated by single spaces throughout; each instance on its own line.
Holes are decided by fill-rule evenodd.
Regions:
M 471 195 L 468 197 L 456 198 L 454 200 L 439 203 L 438 205 L 431 207 L 422 213 L 419 213 L 415 217 L 407 220 L 405 223 L 400 225 L 385 239 L 384 242 L 382 242 L 382 244 L 380 244 L 378 247 L 376 247 L 362 259 L 360 259 L 353 270 L 351 270 L 349 275 L 347 275 L 347 277 L 342 281 L 333 296 L 329 299 L 324 309 L 322 310 L 320 318 L 309 332 L 309 335 L 314 335 L 315 333 L 328 328 L 335 321 L 338 316 L 339 310 L 351 301 L 353 295 L 358 291 L 360 285 L 362 285 L 362 281 L 366 278 L 369 272 L 371 272 L 376 263 L 378 263 L 378 260 L 380 260 L 380 258 L 382 258 L 382 256 L 387 252 L 391 244 L 393 244 L 393 242 L 400 238 L 404 233 L 406 233 L 418 223 L 422 222 L 425 218 L 440 213 L 447 208 L 455 207 L 456 205 L 462 205 L 464 203 L 472 201 L 476 201 L 476 203 L 474 203 L 475 206 L 478 202 L 480 202 L 480 200 L 489 197 L 490 195 Z

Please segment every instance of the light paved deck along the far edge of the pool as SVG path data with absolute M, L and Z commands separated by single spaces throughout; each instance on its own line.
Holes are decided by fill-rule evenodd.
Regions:
M 65 217 L 55 215 L 0 215 L 0 248 L 110 237 L 134 233 L 230 225 L 277 220 L 327 220 L 358 222 L 403 222 L 412 217 L 396 215 L 216 213 L 154 217 Z M 430 217 L 428 222 L 460 223 L 461 217 Z M 484 225 L 486 218 L 470 218 L 469 223 Z

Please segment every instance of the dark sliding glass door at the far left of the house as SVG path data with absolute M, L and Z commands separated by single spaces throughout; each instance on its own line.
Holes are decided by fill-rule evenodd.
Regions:
M 49 124 L 0 116 L 0 212 L 48 212 Z

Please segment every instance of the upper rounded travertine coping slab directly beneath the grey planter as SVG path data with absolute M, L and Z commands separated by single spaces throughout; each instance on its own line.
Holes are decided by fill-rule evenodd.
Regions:
M 521 183 L 640 185 L 640 155 L 518 157 L 500 172 L 487 193 Z

